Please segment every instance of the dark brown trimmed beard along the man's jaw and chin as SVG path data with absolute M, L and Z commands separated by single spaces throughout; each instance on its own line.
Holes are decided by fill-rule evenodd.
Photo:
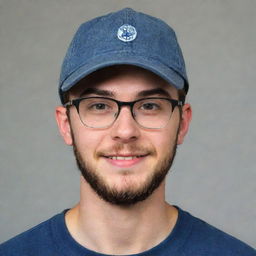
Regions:
M 118 206 L 131 206 L 140 201 L 147 199 L 165 180 L 168 174 L 177 150 L 177 137 L 168 150 L 165 158 L 158 162 L 154 171 L 147 177 L 146 181 L 137 189 L 126 188 L 125 190 L 118 190 L 117 188 L 110 187 L 102 176 L 92 168 L 88 161 L 84 160 L 79 152 L 74 136 L 73 137 L 73 151 L 76 158 L 78 169 L 81 172 L 83 178 L 87 181 L 90 187 L 97 193 L 97 195 L 104 201 Z M 117 145 L 116 148 L 122 148 L 123 145 Z M 136 147 L 140 149 L 140 147 Z M 133 152 L 133 151 L 130 151 Z

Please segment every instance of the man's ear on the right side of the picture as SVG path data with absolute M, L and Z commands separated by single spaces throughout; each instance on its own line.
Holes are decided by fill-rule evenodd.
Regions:
M 184 104 L 182 107 L 182 115 L 181 115 L 181 122 L 179 127 L 179 134 L 177 144 L 180 145 L 183 143 L 185 135 L 188 132 L 189 124 L 192 119 L 192 109 L 189 104 Z

